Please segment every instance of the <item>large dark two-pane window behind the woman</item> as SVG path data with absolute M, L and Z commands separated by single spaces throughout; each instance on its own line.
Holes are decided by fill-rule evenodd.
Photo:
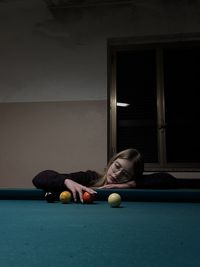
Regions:
M 200 43 L 108 51 L 109 156 L 134 147 L 147 170 L 200 169 Z

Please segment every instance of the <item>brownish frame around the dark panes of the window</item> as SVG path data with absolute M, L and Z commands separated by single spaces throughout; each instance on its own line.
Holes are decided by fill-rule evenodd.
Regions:
M 162 48 L 175 46 L 199 46 L 199 34 L 176 34 L 167 36 L 148 36 L 131 38 L 112 38 L 107 42 L 108 68 L 108 158 L 117 152 L 117 91 L 116 55 L 119 51 L 153 48 L 157 62 L 157 125 L 158 125 L 158 163 L 145 163 L 145 171 L 200 171 L 199 163 L 167 163 L 165 127 L 164 71 Z

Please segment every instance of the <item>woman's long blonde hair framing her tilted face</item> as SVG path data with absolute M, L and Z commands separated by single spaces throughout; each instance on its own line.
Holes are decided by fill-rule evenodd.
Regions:
M 139 153 L 137 149 L 129 148 L 126 150 L 123 150 L 116 155 L 114 155 L 108 162 L 104 175 L 98 179 L 93 186 L 103 186 L 107 179 L 107 171 L 110 168 L 110 166 L 113 164 L 113 162 L 117 159 L 127 159 L 132 163 L 132 169 L 133 169 L 133 176 L 131 177 L 131 180 L 137 180 L 141 177 L 143 171 L 144 171 L 144 162 L 142 155 Z

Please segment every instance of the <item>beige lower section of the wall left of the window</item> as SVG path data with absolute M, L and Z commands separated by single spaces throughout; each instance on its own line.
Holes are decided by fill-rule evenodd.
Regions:
M 103 172 L 106 101 L 0 104 L 0 188 L 32 187 L 40 171 Z

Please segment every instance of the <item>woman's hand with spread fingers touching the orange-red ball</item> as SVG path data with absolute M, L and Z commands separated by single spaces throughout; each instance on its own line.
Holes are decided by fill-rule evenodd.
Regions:
M 97 192 L 93 189 L 83 186 L 81 184 L 78 184 L 71 179 L 66 179 L 64 184 L 66 187 L 72 192 L 73 199 L 75 202 L 77 202 L 77 194 L 79 195 L 80 201 L 83 202 L 83 192 L 88 192 L 92 195 L 96 194 Z

